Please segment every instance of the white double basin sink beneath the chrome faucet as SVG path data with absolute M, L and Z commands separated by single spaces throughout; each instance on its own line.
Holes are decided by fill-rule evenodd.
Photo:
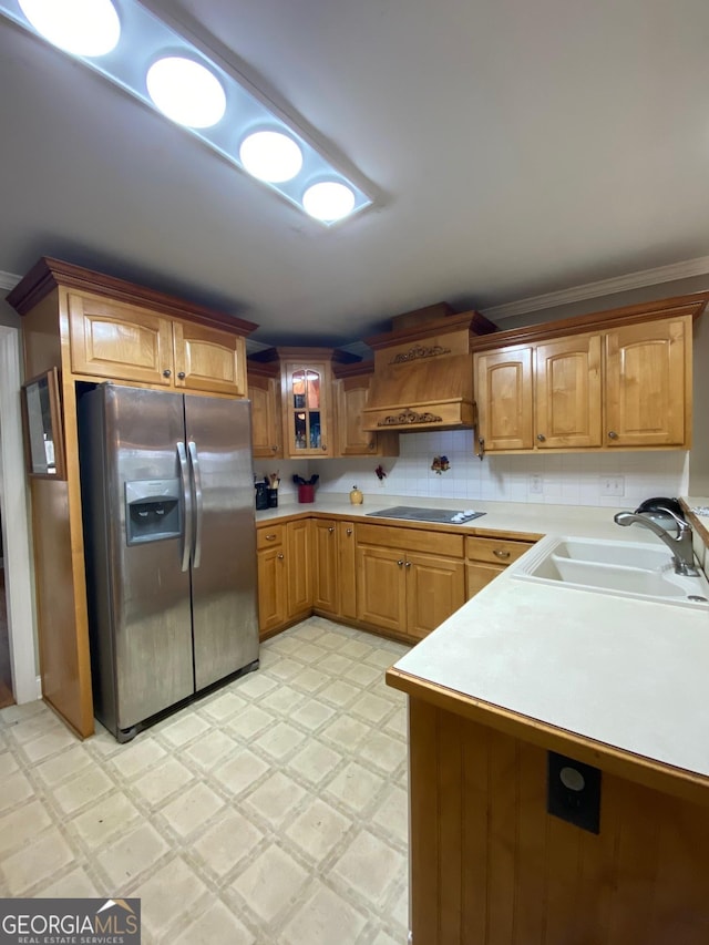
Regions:
M 512 577 L 709 609 L 703 574 L 675 573 L 668 548 L 548 535 L 508 568 Z

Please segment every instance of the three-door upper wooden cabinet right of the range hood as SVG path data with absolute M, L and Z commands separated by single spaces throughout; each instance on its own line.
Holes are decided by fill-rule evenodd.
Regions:
M 692 317 L 708 299 L 499 332 L 517 342 L 500 347 L 495 336 L 476 341 L 479 452 L 688 449 Z

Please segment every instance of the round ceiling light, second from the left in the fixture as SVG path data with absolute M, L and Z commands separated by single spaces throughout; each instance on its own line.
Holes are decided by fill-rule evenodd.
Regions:
M 193 59 L 158 59 L 147 70 L 146 84 L 155 106 L 181 125 L 207 129 L 224 117 L 226 94 L 222 83 Z

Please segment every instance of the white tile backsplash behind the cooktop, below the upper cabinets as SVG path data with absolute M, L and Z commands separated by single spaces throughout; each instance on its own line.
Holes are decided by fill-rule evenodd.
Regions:
M 348 493 L 357 484 L 367 495 L 384 499 L 411 495 L 430 499 L 475 499 L 545 502 L 555 505 L 636 507 L 651 495 L 687 494 L 688 456 L 681 450 L 544 455 L 473 455 L 473 431 L 405 433 L 400 455 L 316 460 L 296 466 L 301 475 L 316 472 L 321 492 Z M 431 470 L 434 456 L 445 455 L 450 469 Z M 377 465 L 387 471 L 380 483 Z M 281 474 L 282 476 L 282 474 Z M 288 476 L 290 479 L 290 476 Z M 282 483 L 287 485 L 287 483 Z

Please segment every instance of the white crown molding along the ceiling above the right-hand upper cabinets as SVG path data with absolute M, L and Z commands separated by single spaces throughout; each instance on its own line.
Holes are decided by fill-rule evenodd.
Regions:
M 526 315 L 530 311 L 540 311 L 544 308 L 554 308 L 559 305 L 571 305 L 576 301 L 612 296 L 616 292 L 626 292 L 633 289 L 643 289 L 647 286 L 656 286 L 660 283 L 674 283 L 677 279 L 689 279 L 692 276 L 705 276 L 709 273 L 709 256 L 700 256 L 697 259 L 686 259 L 684 263 L 672 263 L 669 266 L 659 266 L 657 269 L 643 269 L 639 273 L 628 273 L 626 276 L 616 276 L 613 279 L 602 279 L 599 283 L 586 283 L 571 289 L 561 289 L 557 292 L 547 292 L 543 296 L 531 296 L 518 301 L 497 305 L 492 308 L 483 308 L 481 312 L 492 321 L 501 318 L 512 318 L 515 315 Z

